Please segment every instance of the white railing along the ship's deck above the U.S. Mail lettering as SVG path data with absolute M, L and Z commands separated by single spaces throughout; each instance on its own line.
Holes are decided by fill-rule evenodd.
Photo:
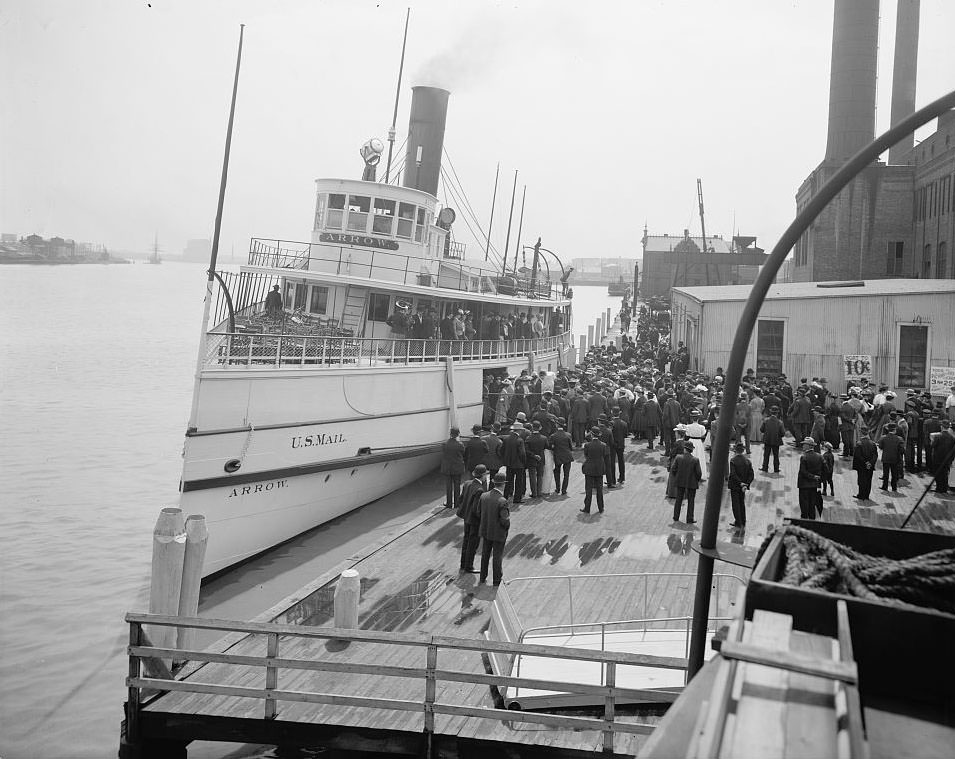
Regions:
M 205 368 L 421 366 L 455 361 L 541 358 L 571 345 L 571 334 L 534 340 L 385 340 L 328 335 L 209 333 Z

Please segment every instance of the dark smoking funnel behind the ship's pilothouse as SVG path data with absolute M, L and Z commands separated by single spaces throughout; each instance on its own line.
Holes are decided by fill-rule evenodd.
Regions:
M 412 87 L 411 92 L 411 120 L 402 184 L 437 196 L 444 124 L 451 93 L 438 87 Z

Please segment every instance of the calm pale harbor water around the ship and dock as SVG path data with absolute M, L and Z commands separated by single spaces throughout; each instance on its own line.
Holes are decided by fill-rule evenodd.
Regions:
M 0 268 L 4 759 L 115 755 L 123 615 L 146 608 L 156 514 L 177 500 L 202 270 Z M 574 293 L 575 332 L 619 305 Z M 319 528 L 205 587 L 200 612 L 250 618 L 422 508 L 409 488 Z

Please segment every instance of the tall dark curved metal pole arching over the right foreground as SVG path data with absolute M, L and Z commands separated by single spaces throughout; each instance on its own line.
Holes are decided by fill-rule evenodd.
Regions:
M 756 326 L 756 319 L 759 316 L 759 309 L 766 298 L 766 293 L 769 292 L 773 279 L 776 277 L 776 272 L 779 271 L 786 256 L 789 255 L 796 241 L 809 227 L 813 219 L 849 184 L 856 174 L 895 145 L 902 137 L 914 132 L 923 124 L 952 108 L 955 108 L 955 91 L 916 111 L 852 156 L 819 189 L 819 192 L 809 201 L 806 207 L 796 215 L 792 224 L 779 238 L 779 242 L 776 243 L 772 253 L 769 254 L 769 258 L 753 284 L 746 306 L 743 308 L 739 327 L 736 329 L 736 337 L 733 339 L 729 364 L 726 368 L 719 431 L 716 440 L 713 442 L 709 481 L 706 484 L 706 506 L 703 511 L 703 529 L 700 535 L 701 549 L 712 550 L 716 547 L 716 529 L 719 522 L 720 503 L 729 461 L 730 430 L 733 428 L 733 420 L 736 414 L 736 401 L 739 396 L 740 378 L 743 376 L 743 364 L 746 360 L 746 351 L 749 348 L 750 339 L 753 336 L 753 327 Z M 690 639 L 690 656 L 687 667 L 691 678 L 703 666 L 703 653 L 706 649 L 706 621 L 709 617 L 710 591 L 713 583 L 713 561 L 712 556 L 700 554 L 696 572 L 696 599 L 693 606 L 693 634 Z

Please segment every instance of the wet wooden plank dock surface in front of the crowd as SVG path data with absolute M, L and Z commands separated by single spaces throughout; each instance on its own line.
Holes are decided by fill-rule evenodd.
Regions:
M 758 467 L 761 447 L 753 446 Z M 578 458 L 580 453 L 577 452 Z M 659 449 L 649 451 L 644 442 L 628 443 L 627 481 L 624 487 L 605 494 L 603 514 L 582 514 L 583 476 L 573 467 L 569 496 L 530 500 L 515 506 L 504 558 L 505 579 L 522 576 L 583 575 L 576 580 L 574 614 L 578 620 L 633 619 L 645 608 L 648 616 L 680 617 L 692 613 L 693 583 L 680 573 L 696 570 L 692 550 L 699 525 L 671 521 L 672 502 L 664 499 L 666 469 Z M 784 446 L 779 474 L 757 472 L 747 497 L 748 529 L 737 535 L 729 522 L 729 498 L 724 497 L 720 533 L 737 548 L 755 552 L 768 528 L 784 517 L 798 516 L 796 471 L 799 452 Z M 898 527 L 915 505 L 928 478 L 908 475 L 898 493 L 874 490 L 873 500 L 860 505 L 852 498 L 855 476 L 846 460 L 837 458 L 834 475 L 836 495 L 826 497 L 822 519 L 834 522 Z M 545 490 L 552 482 L 545 482 Z M 421 498 L 434 508 L 423 519 L 406 525 L 397 534 L 361 555 L 316 578 L 308 587 L 273 607 L 261 621 L 330 626 L 333 619 L 335 580 L 344 568 L 361 576 L 359 628 L 384 633 L 415 633 L 429 636 L 482 639 L 490 618 L 496 589 L 479 586 L 475 575 L 458 573 L 462 527 L 450 509 L 442 508 L 443 488 L 437 477 L 425 478 L 411 487 L 422 488 Z M 697 517 L 702 519 L 702 496 Z M 928 495 L 910 522 L 910 528 L 931 532 L 955 532 L 955 498 Z M 748 570 L 721 563 L 717 572 L 745 578 Z M 590 578 L 610 573 L 675 573 L 661 575 L 648 584 Z M 736 583 L 728 583 L 718 600 L 727 613 L 735 598 Z M 568 614 L 567 590 L 562 582 L 526 584 L 532 592 L 520 591 L 521 583 L 509 587 L 525 624 L 556 624 Z M 647 595 L 644 595 L 644 594 Z M 712 611 L 711 611 L 712 613 Z M 261 656 L 265 636 L 233 634 L 210 650 L 227 654 Z M 424 667 L 421 648 L 374 646 L 352 643 L 283 639 L 282 657 L 319 659 L 332 657 L 340 664 L 372 661 L 380 666 Z M 485 673 L 480 652 L 442 651 L 439 666 Z M 347 669 L 347 667 L 346 667 Z M 206 663 L 187 667 L 179 678 L 226 686 L 261 687 L 259 668 L 229 663 Z M 559 678 L 558 678 L 559 679 Z M 417 684 L 412 684 L 417 686 Z M 282 670 L 278 687 L 284 691 L 314 691 L 374 698 L 408 698 L 406 680 L 369 674 Z M 275 686 L 273 686 L 275 687 Z M 417 693 L 412 697 L 416 697 Z M 466 706 L 493 708 L 494 697 L 486 684 L 439 683 L 438 699 Z M 262 719 L 261 701 L 201 693 L 168 692 L 143 707 L 140 728 L 148 739 L 192 739 L 324 744 L 337 748 L 404 753 L 418 745 L 423 729 L 421 713 L 390 711 L 348 705 L 279 702 L 275 720 Z M 621 719 L 618 714 L 617 719 Z M 622 717 L 653 723 L 654 716 Z M 543 725 L 517 725 L 507 721 L 461 715 L 435 715 L 434 734 L 443 740 L 447 755 L 466 755 L 473 747 L 506 745 L 515 755 L 532 755 L 538 749 L 550 755 L 590 755 L 601 749 L 598 730 L 555 729 Z M 645 735 L 618 733 L 614 753 L 636 754 Z M 449 749 L 454 746 L 455 749 Z M 471 746 L 471 749 L 467 747 Z

